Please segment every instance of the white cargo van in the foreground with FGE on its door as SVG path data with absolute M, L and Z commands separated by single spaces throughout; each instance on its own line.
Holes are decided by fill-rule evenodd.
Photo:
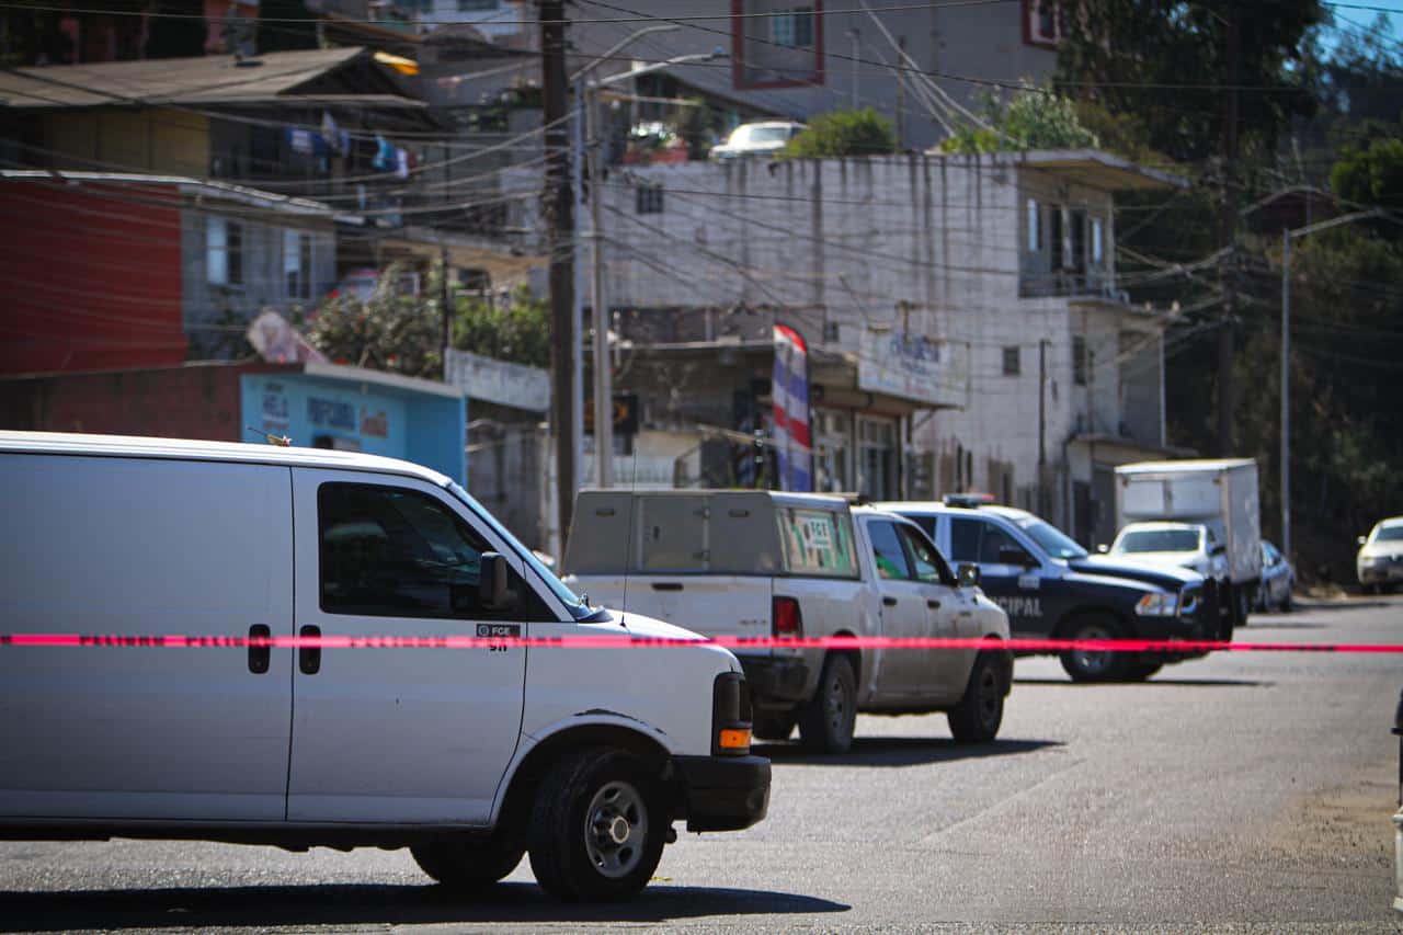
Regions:
M 368 455 L 0 432 L 0 633 L 665 636 L 591 608 L 467 493 Z M 672 821 L 765 817 L 716 646 L 0 644 L 0 838 L 410 847 L 470 890 L 530 854 L 636 893 Z

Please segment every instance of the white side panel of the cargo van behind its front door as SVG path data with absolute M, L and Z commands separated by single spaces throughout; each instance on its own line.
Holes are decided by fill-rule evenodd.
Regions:
M 288 468 L 0 455 L 0 630 L 292 633 Z M 0 649 L 0 816 L 282 820 L 293 651 Z

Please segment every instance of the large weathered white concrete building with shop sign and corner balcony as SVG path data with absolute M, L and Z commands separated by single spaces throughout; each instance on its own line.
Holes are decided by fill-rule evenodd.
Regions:
M 616 476 L 755 483 L 787 324 L 810 347 L 817 486 L 984 490 L 1108 541 L 1111 468 L 1164 451 L 1170 320 L 1117 286 L 1114 192 L 1179 184 L 1086 150 L 615 173 L 615 389 L 643 409 Z

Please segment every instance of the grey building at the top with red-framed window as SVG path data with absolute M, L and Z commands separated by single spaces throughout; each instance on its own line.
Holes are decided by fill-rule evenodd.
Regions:
M 933 3 L 920 8 L 832 0 L 636 0 L 629 10 L 678 24 L 627 44 L 596 74 L 720 48 L 727 58 L 666 69 L 689 90 L 720 101 L 805 121 L 815 114 L 873 107 L 898 128 L 904 149 L 925 149 L 946 131 L 918 100 L 916 74 L 976 110 L 984 91 L 1042 81 L 1056 66 L 1065 20 L 1055 0 Z M 881 10 L 894 6 L 897 8 Z M 826 7 L 826 8 L 825 8 Z M 581 60 L 605 53 L 640 22 L 579 0 L 568 7 L 570 39 Z M 902 46 L 911 65 L 898 65 Z M 657 93 L 657 79 L 634 88 Z

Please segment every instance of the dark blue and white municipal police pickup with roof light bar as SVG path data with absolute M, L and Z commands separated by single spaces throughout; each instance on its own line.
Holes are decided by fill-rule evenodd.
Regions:
M 875 504 L 926 531 L 951 562 L 979 566 L 981 587 L 1009 614 L 1014 637 L 1194 640 L 1219 636 L 1204 612 L 1204 578 L 1090 556 L 1026 510 L 969 497 Z M 1201 653 L 1198 653 L 1201 654 Z M 1145 679 L 1191 653 L 1062 653 L 1075 681 Z

